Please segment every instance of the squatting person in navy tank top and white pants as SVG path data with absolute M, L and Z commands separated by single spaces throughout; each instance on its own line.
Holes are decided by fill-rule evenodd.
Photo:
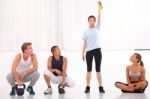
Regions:
M 58 46 L 51 48 L 52 56 L 48 58 L 47 70 L 44 73 L 44 78 L 48 88 L 44 91 L 44 94 L 51 94 L 52 88 L 50 82 L 59 84 L 58 91 L 60 94 L 65 93 L 64 87 L 73 87 L 74 82 L 67 76 L 67 58 L 61 56 L 61 52 Z

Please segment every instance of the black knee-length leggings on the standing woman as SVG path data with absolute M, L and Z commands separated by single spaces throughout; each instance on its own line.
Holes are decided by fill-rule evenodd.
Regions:
M 88 72 L 92 71 L 93 57 L 95 59 L 96 72 L 100 72 L 101 71 L 101 69 L 100 69 L 101 61 L 102 61 L 101 48 L 86 52 L 86 63 L 87 63 L 87 71 Z

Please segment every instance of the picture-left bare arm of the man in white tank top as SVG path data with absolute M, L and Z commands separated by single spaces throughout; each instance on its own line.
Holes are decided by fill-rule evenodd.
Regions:
M 20 59 L 21 59 L 21 54 L 16 55 L 16 57 L 13 61 L 13 64 L 12 64 L 12 74 L 13 74 L 14 79 L 15 79 L 16 82 L 22 82 L 20 77 L 19 77 L 19 74 L 16 71 L 16 68 L 19 64 Z

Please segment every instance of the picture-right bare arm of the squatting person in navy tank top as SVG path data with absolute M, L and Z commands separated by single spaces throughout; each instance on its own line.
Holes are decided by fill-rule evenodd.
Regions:
M 63 57 L 63 73 L 62 73 L 62 81 L 61 81 L 62 85 L 65 84 L 66 70 L 67 70 L 67 58 Z

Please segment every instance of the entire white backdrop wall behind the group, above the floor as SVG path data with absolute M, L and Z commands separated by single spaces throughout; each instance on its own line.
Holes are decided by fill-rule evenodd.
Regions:
M 148 49 L 150 0 L 102 0 L 104 49 Z M 58 44 L 82 48 L 87 17 L 97 0 L 0 0 L 0 50 L 18 50 L 24 41 L 37 50 Z

